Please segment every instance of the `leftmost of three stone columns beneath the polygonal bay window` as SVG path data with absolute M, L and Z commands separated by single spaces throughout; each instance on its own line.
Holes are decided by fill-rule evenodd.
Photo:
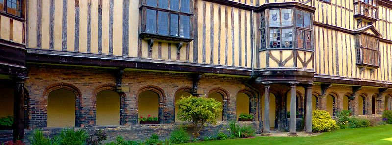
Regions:
M 271 133 L 270 131 L 270 90 L 271 84 L 265 83 L 265 94 L 264 94 L 264 121 L 263 121 L 263 133 Z

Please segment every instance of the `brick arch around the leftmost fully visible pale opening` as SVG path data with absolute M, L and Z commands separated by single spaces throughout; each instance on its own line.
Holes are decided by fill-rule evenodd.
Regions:
M 58 90 L 58 89 L 67 89 L 72 91 L 75 96 L 76 96 L 76 100 L 75 100 L 75 126 L 80 127 L 82 125 L 81 122 L 81 101 L 82 101 L 82 93 L 79 90 L 79 88 L 77 88 L 76 86 L 69 84 L 69 83 L 55 83 L 52 85 L 49 85 L 47 88 L 44 89 L 44 93 L 43 93 L 43 97 L 44 97 L 44 102 L 46 103 L 46 107 L 45 110 L 47 110 L 47 105 L 48 105 L 48 95 L 50 92 L 54 91 L 54 90 Z M 44 112 L 44 116 L 46 117 L 45 122 L 44 122 L 44 126 L 48 126 L 48 111 Z

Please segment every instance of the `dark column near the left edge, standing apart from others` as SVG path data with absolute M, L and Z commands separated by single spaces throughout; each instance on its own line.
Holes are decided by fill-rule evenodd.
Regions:
M 25 135 L 25 78 L 17 77 L 14 90 L 14 123 L 13 123 L 13 139 L 21 140 Z

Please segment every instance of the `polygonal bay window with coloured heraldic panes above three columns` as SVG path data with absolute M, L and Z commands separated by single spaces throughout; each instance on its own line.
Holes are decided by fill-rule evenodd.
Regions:
M 296 8 L 261 12 L 260 49 L 312 48 L 312 13 Z

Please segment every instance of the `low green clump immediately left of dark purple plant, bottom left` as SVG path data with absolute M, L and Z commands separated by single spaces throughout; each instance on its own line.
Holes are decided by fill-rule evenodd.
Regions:
M 86 130 L 84 129 L 69 129 L 64 128 L 60 133 L 60 145 L 83 145 L 87 138 Z

